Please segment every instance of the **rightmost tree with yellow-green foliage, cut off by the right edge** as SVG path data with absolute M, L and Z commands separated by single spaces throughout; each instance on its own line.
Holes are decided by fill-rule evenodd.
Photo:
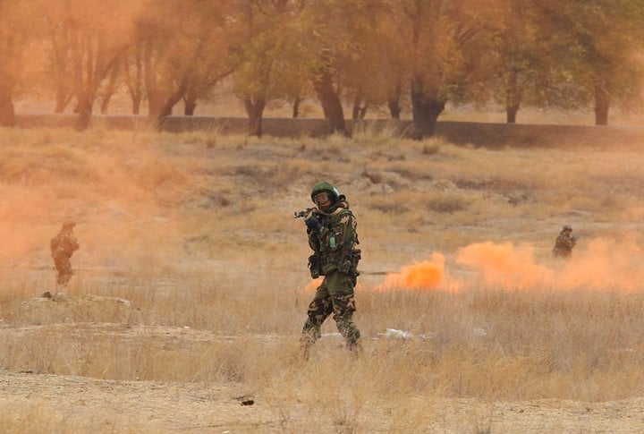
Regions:
M 566 0 L 539 4 L 564 42 L 561 62 L 578 106 L 593 106 L 595 124 L 606 125 L 611 106 L 640 94 L 642 64 L 639 0 Z

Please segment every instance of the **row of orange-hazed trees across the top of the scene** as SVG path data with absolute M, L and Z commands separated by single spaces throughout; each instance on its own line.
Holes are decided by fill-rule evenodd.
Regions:
M 267 107 L 295 117 L 311 98 L 343 134 L 347 111 L 411 114 L 410 136 L 426 137 L 446 104 L 606 124 L 640 106 L 643 15 L 637 0 L 4 0 L 0 124 L 15 101 L 73 110 L 82 130 L 114 99 L 161 124 L 224 95 L 251 135 Z

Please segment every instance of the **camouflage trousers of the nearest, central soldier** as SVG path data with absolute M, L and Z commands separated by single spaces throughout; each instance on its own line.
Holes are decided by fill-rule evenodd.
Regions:
M 334 314 L 335 325 L 344 336 L 347 347 L 350 350 L 356 349 L 360 330 L 352 320 L 355 310 L 352 278 L 338 271 L 327 275 L 309 304 L 309 318 L 302 328 L 301 345 L 305 356 L 308 355 L 310 346 L 320 337 L 322 323 L 331 313 Z

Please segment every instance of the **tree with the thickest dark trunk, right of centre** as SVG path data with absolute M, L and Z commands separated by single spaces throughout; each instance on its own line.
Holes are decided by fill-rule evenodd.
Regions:
M 496 3 L 486 0 L 404 0 L 398 5 L 394 19 L 408 45 L 411 135 L 421 139 L 436 132 L 448 100 L 475 99 L 484 91 L 498 12 Z

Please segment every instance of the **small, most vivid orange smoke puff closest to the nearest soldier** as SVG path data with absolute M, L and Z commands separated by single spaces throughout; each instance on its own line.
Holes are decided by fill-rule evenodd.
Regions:
M 400 273 L 391 273 L 386 276 L 385 282 L 377 286 L 377 290 L 390 289 L 415 289 L 431 291 L 435 289 L 456 290 L 456 286 L 445 288 L 445 256 L 432 253 L 430 260 L 417 262 L 403 267 Z

